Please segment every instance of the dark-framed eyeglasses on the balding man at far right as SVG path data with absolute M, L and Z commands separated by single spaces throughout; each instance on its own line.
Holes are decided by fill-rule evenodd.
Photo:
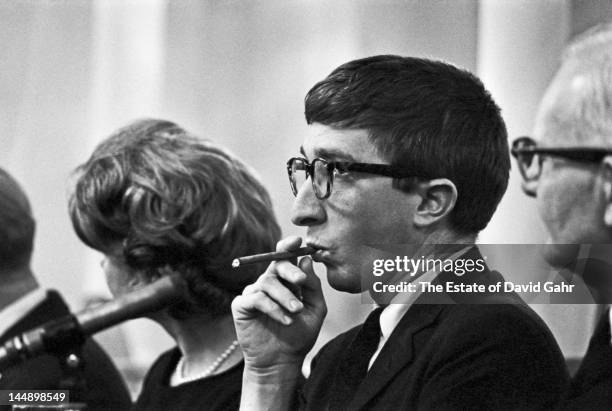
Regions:
M 542 173 L 542 159 L 556 156 L 586 163 L 599 163 L 612 155 L 612 150 L 596 147 L 545 147 L 539 148 L 531 137 L 519 137 L 512 143 L 512 155 L 516 158 L 525 181 L 537 180 Z

